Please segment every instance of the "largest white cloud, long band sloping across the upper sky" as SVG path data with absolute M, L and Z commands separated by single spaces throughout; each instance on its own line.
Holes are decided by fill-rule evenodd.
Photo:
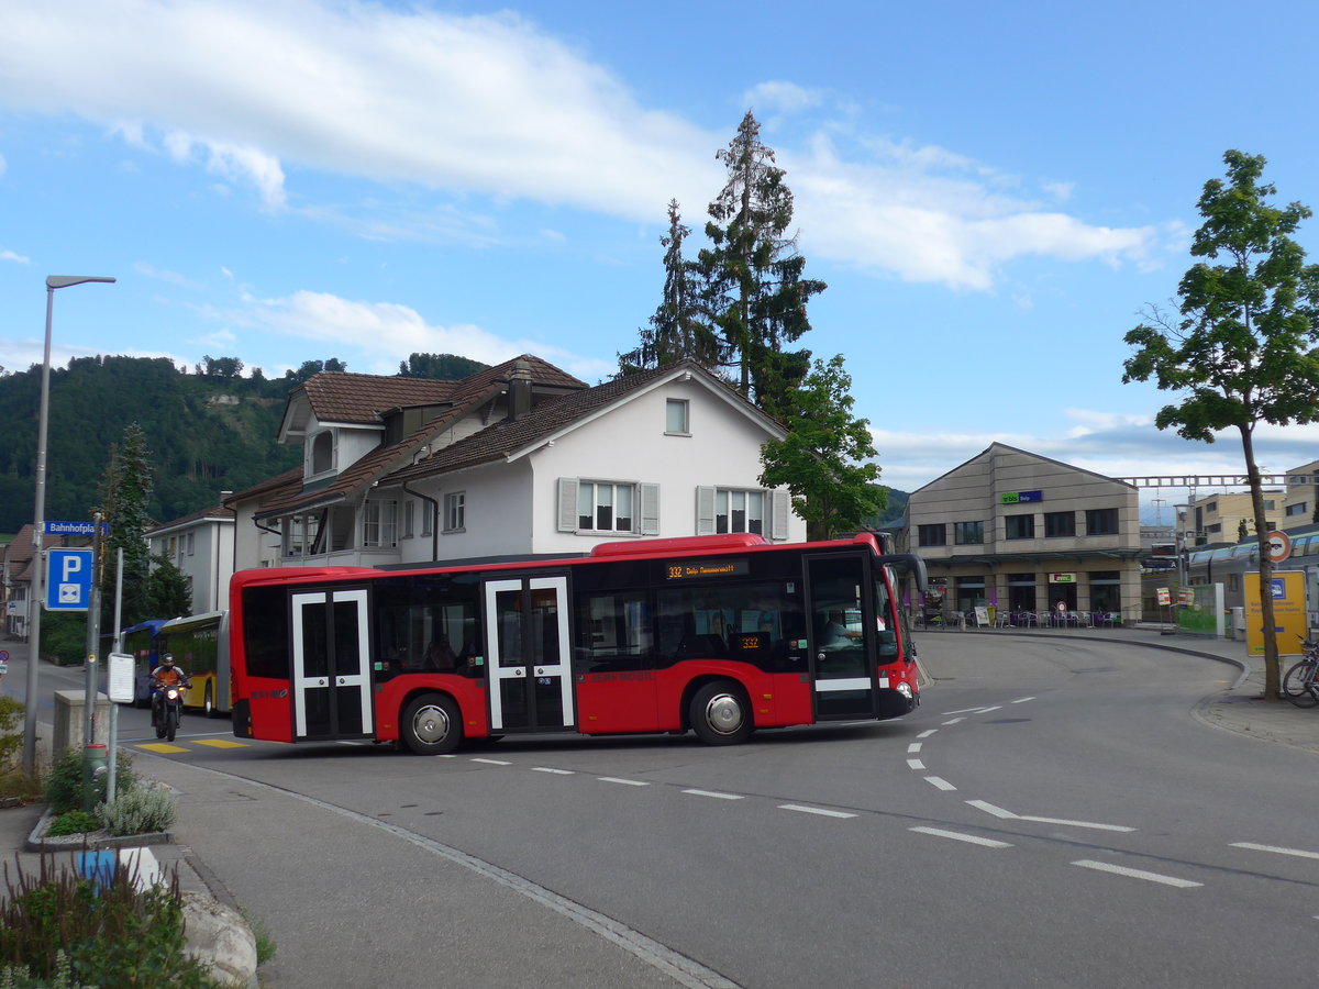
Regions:
M 103 24 L 100 0 L 9 0 L 0 104 L 77 113 L 132 148 L 154 145 L 251 185 L 266 208 L 297 202 L 363 236 L 479 241 L 492 232 L 441 204 L 371 218 L 303 206 L 290 198 L 286 166 L 438 190 L 464 212 L 526 199 L 657 225 L 669 199 L 704 203 L 721 185 L 714 152 L 736 123 L 711 133 L 646 108 L 615 71 L 510 13 L 120 0 L 113 45 Z M 782 79 L 747 95 L 770 112 L 823 103 Z M 832 137 L 844 129 L 816 128 L 805 148 L 776 148 L 813 255 L 973 290 L 1025 256 L 1141 264 L 1149 255 L 1151 227 L 1093 225 L 1002 195 L 1021 181 L 954 150 L 859 135 L 843 158 Z M 1068 191 L 1058 181 L 1046 189 L 1055 204 Z

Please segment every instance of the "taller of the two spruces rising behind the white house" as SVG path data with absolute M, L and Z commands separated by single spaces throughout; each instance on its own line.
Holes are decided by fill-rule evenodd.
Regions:
M 751 111 L 716 157 L 728 181 L 710 203 L 711 247 L 698 256 L 706 311 L 723 338 L 725 363 L 737 368 L 741 393 L 770 414 L 789 417 L 791 392 L 810 371 L 810 351 L 785 345 L 811 328 L 806 303 L 826 285 L 802 277 L 806 258 L 797 237 L 787 236 L 793 193 Z

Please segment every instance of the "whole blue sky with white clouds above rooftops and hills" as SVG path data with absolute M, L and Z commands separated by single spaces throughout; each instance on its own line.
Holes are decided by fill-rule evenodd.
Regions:
M 598 381 L 660 301 L 666 203 L 694 252 L 749 108 L 830 286 L 802 343 L 845 356 L 885 483 L 995 440 L 1239 472 L 1235 435 L 1154 429 L 1122 335 L 1175 294 L 1224 150 L 1319 206 L 1316 28 L 1275 0 L 7 0 L 0 367 L 41 361 L 47 274 L 98 274 L 57 293 L 57 365 L 533 352 Z M 1282 471 L 1319 429 L 1257 447 Z

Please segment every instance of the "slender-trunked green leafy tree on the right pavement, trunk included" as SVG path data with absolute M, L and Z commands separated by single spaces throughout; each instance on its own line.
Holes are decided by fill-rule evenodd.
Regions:
M 1269 525 L 1253 436 L 1261 422 L 1319 419 L 1319 265 L 1307 265 L 1291 239 L 1310 210 L 1269 202 L 1277 189 L 1261 182 L 1265 160 L 1229 150 L 1223 161 L 1227 181 L 1204 183 L 1204 223 L 1191 244 L 1192 257 L 1210 261 L 1182 277 L 1179 318 L 1151 310 L 1149 323 L 1126 334 L 1136 352 L 1122 381 L 1154 378 L 1181 396 L 1155 415 L 1161 430 L 1206 443 L 1217 430 L 1240 435 L 1260 547 L 1261 617 L 1273 628 Z M 1265 636 L 1268 699 L 1278 698 L 1279 683 L 1278 645 Z

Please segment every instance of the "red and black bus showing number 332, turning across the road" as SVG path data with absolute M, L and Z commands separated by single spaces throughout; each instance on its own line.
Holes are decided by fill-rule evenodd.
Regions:
M 532 732 L 897 717 L 919 703 L 900 572 L 874 537 L 636 539 L 590 556 L 247 570 L 231 584 L 233 733 L 447 753 Z

